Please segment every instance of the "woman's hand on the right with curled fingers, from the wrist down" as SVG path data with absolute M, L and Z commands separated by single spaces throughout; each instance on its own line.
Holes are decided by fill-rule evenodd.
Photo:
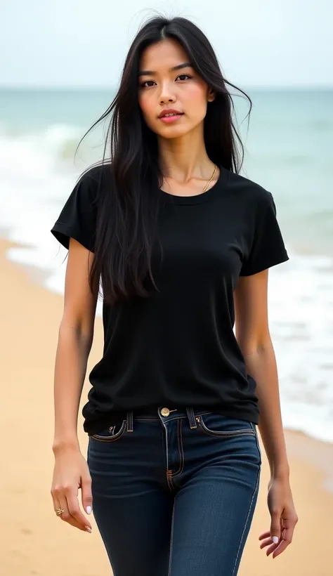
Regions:
M 269 556 L 273 552 L 273 558 L 276 558 L 292 542 L 294 528 L 299 521 L 292 499 L 289 478 L 270 479 L 267 502 L 271 517 L 270 530 L 259 536 L 259 540 L 264 538 L 260 547 L 269 546 L 266 555 Z

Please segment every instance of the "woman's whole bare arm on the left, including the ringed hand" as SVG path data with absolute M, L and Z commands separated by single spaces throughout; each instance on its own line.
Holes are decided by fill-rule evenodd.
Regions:
M 93 252 L 71 237 L 54 370 L 53 508 L 62 508 L 60 518 L 81 530 L 91 528 L 91 524 L 79 509 L 79 487 L 84 509 L 92 504 L 89 468 L 77 437 L 79 403 L 93 343 L 98 298 L 98 287 L 94 294 L 89 288 L 92 263 Z

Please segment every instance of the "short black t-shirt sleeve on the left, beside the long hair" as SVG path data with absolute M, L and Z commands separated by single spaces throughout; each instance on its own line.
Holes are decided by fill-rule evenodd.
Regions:
M 96 174 L 96 171 L 94 172 Z M 57 221 L 51 228 L 53 236 L 69 248 L 70 237 L 82 246 L 94 251 L 96 233 L 98 181 L 92 173 L 87 172 L 74 186 L 67 198 Z

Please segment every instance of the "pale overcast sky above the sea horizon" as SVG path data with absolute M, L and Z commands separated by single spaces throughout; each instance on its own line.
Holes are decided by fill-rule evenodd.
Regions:
M 243 86 L 333 86 L 332 0 L 0 0 L 0 86 L 114 86 L 152 11 L 182 15 Z

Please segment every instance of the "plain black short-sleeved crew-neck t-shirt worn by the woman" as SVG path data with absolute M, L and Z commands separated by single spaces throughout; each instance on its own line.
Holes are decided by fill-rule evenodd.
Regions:
M 233 332 L 233 290 L 239 276 L 289 256 L 271 193 L 219 168 L 218 181 L 199 195 L 156 190 L 163 259 L 153 251 L 152 269 L 159 292 L 103 302 L 103 358 L 89 374 L 82 410 L 89 435 L 127 410 L 158 406 L 207 407 L 259 423 L 256 381 Z M 51 230 L 66 248 L 73 237 L 94 251 L 102 170 L 95 166 L 81 176 Z

